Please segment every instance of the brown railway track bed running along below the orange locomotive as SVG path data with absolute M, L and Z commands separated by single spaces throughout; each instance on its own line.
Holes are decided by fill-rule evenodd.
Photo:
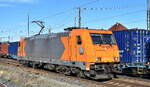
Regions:
M 44 74 L 51 74 L 53 76 L 61 77 L 63 79 L 69 79 L 70 81 L 79 81 L 83 84 L 93 84 L 96 87 L 150 87 L 150 80 L 148 79 L 140 79 L 135 77 L 128 77 L 128 76 L 121 76 L 119 75 L 119 78 L 113 78 L 112 80 L 89 80 L 89 79 L 79 79 L 74 76 L 66 76 L 64 74 L 59 74 L 55 72 L 50 72 L 47 70 L 42 69 L 33 69 L 30 67 L 25 67 L 22 64 L 20 64 L 18 61 L 11 60 L 11 59 L 0 59 L 1 64 L 10 65 L 19 67 L 21 69 L 24 69 L 27 72 L 34 73 L 35 75 L 44 75 Z M 67 81 L 67 80 L 66 80 Z M 0 86 L 1 87 L 1 86 Z

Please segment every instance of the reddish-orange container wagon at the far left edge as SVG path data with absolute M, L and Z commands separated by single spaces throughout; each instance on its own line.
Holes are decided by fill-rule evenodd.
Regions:
M 0 42 L 0 57 L 7 57 L 7 56 L 8 56 L 8 43 Z

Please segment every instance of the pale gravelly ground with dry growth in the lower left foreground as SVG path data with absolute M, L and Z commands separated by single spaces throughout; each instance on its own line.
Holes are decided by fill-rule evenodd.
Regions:
M 18 87 L 81 87 L 79 84 L 72 84 L 63 81 L 63 79 L 54 79 L 48 75 L 36 75 L 26 72 L 21 68 L 4 66 L 0 64 L 0 77 L 5 81 L 15 83 Z M 0 81 L 1 82 L 1 81 Z M 76 83 L 76 82 L 75 82 Z M 16 87 L 8 84 L 8 87 Z

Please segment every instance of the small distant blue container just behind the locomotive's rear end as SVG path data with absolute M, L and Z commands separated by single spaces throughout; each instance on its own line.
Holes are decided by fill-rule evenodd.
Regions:
M 19 47 L 19 42 L 11 42 L 11 43 L 9 43 L 8 54 L 17 56 L 18 47 Z

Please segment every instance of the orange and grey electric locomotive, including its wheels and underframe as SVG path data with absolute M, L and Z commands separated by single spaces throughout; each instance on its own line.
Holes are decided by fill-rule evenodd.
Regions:
M 112 78 L 119 50 L 111 31 L 67 28 L 20 41 L 18 60 L 65 74 L 92 79 Z

